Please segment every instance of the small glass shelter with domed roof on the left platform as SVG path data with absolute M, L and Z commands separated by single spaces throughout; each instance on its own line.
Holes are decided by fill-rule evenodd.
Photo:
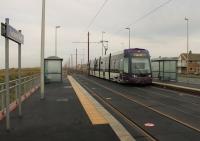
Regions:
M 44 59 L 45 83 L 62 82 L 62 58 L 50 56 Z

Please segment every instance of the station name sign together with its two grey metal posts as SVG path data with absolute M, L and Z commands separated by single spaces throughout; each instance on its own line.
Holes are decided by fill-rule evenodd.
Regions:
M 21 113 L 21 44 L 24 43 L 24 36 L 21 31 L 16 30 L 9 25 L 9 19 L 6 18 L 5 24 L 1 23 L 1 35 L 5 37 L 5 83 L 6 83 L 6 130 L 10 130 L 10 86 L 9 86 L 9 40 L 18 44 L 18 95 L 19 116 Z

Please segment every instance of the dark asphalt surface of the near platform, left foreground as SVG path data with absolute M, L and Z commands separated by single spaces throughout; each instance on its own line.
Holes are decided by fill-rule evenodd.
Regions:
M 68 80 L 45 86 L 22 105 L 23 117 L 11 112 L 11 130 L 0 121 L 0 141 L 119 141 L 104 119 L 92 123 Z M 96 115 L 98 116 L 98 114 Z M 98 123 L 99 122 L 99 123 Z

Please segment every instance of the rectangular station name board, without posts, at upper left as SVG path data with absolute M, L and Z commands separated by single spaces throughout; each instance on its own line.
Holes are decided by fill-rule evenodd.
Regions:
M 18 44 L 24 43 L 24 35 L 10 25 L 1 23 L 1 35 Z

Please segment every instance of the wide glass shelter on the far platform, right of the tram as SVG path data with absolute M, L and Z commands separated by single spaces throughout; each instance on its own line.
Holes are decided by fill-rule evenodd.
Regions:
M 177 62 L 177 57 L 152 59 L 152 77 L 161 81 L 177 81 Z

